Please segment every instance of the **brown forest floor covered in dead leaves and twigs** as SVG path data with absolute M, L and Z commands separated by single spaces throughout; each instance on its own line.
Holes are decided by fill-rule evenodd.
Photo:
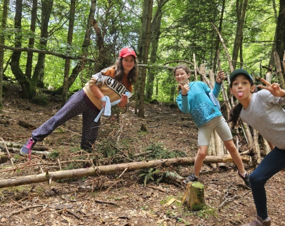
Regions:
M 3 96 L 4 109 L 0 111 L 0 120 L 8 120 L 9 123 L 0 124 L 0 137 L 4 141 L 24 144 L 31 137 L 32 129 L 21 127 L 19 121 L 38 127 L 60 109 L 60 103 L 57 97 L 49 97 L 48 105 L 45 107 L 31 104 L 28 100 L 20 98 L 20 91 L 19 86 L 8 85 L 8 91 Z M 86 163 L 64 164 L 63 161 L 94 158 L 95 165 L 108 165 L 134 162 L 132 159 L 151 160 L 160 156 L 171 156 L 170 154 L 174 157 L 183 154 L 196 155 L 198 129 L 189 115 L 164 103 L 145 104 L 144 111 L 143 120 L 134 113 L 132 105 L 121 116 L 102 117 L 100 133 L 92 153 L 83 152 L 78 148 L 82 117 L 77 116 L 44 141 L 37 143 L 54 151 L 54 155 L 42 155 L 42 161 L 51 163 L 46 166 L 49 171 L 57 171 L 57 159 L 61 162 L 62 168 L 76 169 L 85 167 Z M 148 133 L 140 131 L 142 123 L 147 123 Z M 132 157 L 145 150 L 156 152 L 152 156 Z M 240 143 L 240 150 L 247 150 L 245 142 Z M 17 169 L 17 176 L 43 172 L 42 167 L 32 166 L 32 163 L 41 163 L 39 158 L 32 156 L 32 163 L 28 164 L 27 157 L 20 156 L 19 152 L 10 154 L 17 167 L 25 166 Z M 104 162 L 100 161 L 103 157 Z M 1 157 L 0 179 L 14 177 L 13 171 L 9 171 L 10 161 L 5 162 L 4 159 Z M 249 172 L 254 170 L 249 164 L 245 164 L 245 168 Z M 157 169 L 160 172 L 170 170 L 188 176 L 193 166 Z M 227 164 L 226 169 L 213 169 L 210 165 L 203 165 L 199 182 L 205 186 L 204 196 L 208 208 L 198 212 L 191 212 L 181 204 L 185 186 L 167 180 L 156 181 L 158 177 L 151 174 L 153 171 L 126 171 L 122 175 L 119 172 L 52 181 L 49 185 L 48 182 L 43 182 L 2 188 L 0 225 L 239 226 L 253 221 L 256 217 L 252 194 L 237 176 L 234 164 Z M 144 185 L 146 174 L 149 180 Z M 153 189 L 151 197 L 146 197 L 151 190 L 148 186 L 164 189 L 165 192 Z M 267 182 L 266 191 L 268 215 L 272 218 L 272 226 L 285 226 L 285 172 L 274 175 Z M 228 196 L 225 197 L 227 193 Z M 236 198 L 232 198 L 234 196 Z M 167 205 L 172 198 L 176 200 Z M 219 207 L 226 198 L 232 199 Z M 98 203 L 98 199 L 109 203 Z M 24 209 L 35 205 L 38 207 Z M 65 208 L 62 209 L 63 207 Z

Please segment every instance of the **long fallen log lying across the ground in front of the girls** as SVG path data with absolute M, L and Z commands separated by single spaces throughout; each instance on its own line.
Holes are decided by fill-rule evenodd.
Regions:
M 241 157 L 245 163 L 250 162 L 249 156 Z M 160 159 L 148 162 L 134 162 L 134 163 L 122 163 L 108 166 L 90 167 L 84 169 L 70 169 L 63 171 L 55 171 L 47 173 L 41 173 L 37 175 L 11 177 L 8 179 L 0 180 L 0 188 L 13 187 L 25 184 L 40 183 L 44 181 L 55 181 L 67 178 L 83 177 L 83 176 L 94 176 L 106 173 L 122 172 L 124 170 L 133 171 L 137 169 L 148 169 L 157 166 L 182 166 L 182 165 L 193 165 L 195 157 L 184 157 L 184 158 L 172 158 L 172 159 Z M 204 164 L 212 163 L 232 163 L 233 160 L 230 155 L 222 156 L 207 156 L 204 160 Z

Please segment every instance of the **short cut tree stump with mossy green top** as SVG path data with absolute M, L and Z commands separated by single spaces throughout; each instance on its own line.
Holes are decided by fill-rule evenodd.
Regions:
M 185 195 L 182 198 L 182 203 L 187 204 L 190 211 L 202 210 L 206 204 L 204 199 L 204 185 L 200 182 L 189 182 L 187 184 Z

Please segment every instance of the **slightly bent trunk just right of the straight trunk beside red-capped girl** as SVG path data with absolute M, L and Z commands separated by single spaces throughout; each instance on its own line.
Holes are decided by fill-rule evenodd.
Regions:
M 162 18 L 162 6 L 167 1 L 168 0 L 159 0 L 158 1 L 157 10 L 156 10 L 155 15 L 153 17 L 153 20 L 151 22 L 151 38 L 150 38 L 151 52 L 150 52 L 150 59 L 149 59 L 149 62 L 151 64 L 155 64 L 155 62 L 156 62 L 158 41 L 159 41 L 159 36 L 161 33 L 160 25 L 161 25 L 161 18 Z M 145 88 L 145 100 L 146 101 L 152 99 L 154 75 L 155 75 L 155 72 L 153 72 L 151 69 L 149 69 L 146 88 Z

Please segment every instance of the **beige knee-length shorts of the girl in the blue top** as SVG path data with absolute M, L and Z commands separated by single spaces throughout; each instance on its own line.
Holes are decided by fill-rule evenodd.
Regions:
M 232 139 L 228 123 L 223 116 L 214 117 L 198 130 L 198 146 L 209 146 L 209 141 L 212 131 L 216 129 L 222 141 L 229 141 Z

